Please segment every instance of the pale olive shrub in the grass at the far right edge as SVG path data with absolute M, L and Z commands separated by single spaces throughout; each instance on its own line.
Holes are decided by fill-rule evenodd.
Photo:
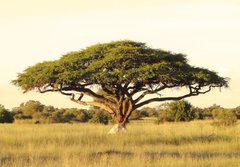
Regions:
M 237 116 L 231 109 L 216 109 L 213 110 L 214 125 L 232 126 L 237 123 Z

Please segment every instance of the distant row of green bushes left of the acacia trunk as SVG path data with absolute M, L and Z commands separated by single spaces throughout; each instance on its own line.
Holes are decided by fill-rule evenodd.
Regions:
M 55 108 L 45 106 L 38 101 L 30 100 L 20 104 L 12 111 L 3 106 L 0 108 L 0 123 L 78 123 L 92 122 L 107 124 L 111 118 L 103 110 L 98 108 Z

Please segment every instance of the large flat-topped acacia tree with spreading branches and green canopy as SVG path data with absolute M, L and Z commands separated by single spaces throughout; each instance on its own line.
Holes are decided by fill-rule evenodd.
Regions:
M 24 92 L 57 91 L 78 104 L 103 108 L 119 128 L 125 128 L 134 110 L 149 103 L 180 100 L 228 86 L 227 79 L 216 72 L 190 66 L 183 54 L 128 40 L 93 45 L 56 61 L 38 63 L 12 83 Z M 180 96 L 159 94 L 176 87 L 189 91 Z M 157 96 L 149 96 L 153 94 Z

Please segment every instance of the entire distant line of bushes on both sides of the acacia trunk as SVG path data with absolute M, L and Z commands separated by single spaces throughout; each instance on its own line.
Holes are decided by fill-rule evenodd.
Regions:
M 233 125 L 240 119 L 240 106 L 225 109 L 219 105 L 207 108 L 194 107 L 188 101 L 180 100 L 164 103 L 158 107 L 144 107 L 133 111 L 131 120 L 153 118 L 156 123 L 180 122 L 191 120 L 213 119 L 215 124 Z M 0 123 L 102 123 L 113 122 L 112 117 L 104 110 L 93 107 L 90 109 L 55 108 L 45 106 L 38 101 L 27 101 L 9 111 L 0 105 Z

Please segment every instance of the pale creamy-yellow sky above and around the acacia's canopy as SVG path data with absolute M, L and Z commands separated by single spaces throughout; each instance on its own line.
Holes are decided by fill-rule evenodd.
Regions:
M 10 81 L 37 62 L 125 39 L 184 53 L 230 78 L 227 89 L 188 98 L 193 105 L 240 106 L 239 0 L 0 0 L 0 104 L 79 107 L 57 93 L 23 94 Z

